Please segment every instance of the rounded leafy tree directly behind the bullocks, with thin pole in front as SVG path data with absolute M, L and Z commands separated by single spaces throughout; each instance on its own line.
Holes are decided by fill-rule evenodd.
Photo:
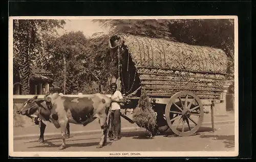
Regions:
M 82 32 L 70 32 L 60 37 L 47 37 L 46 56 L 38 62 L 43 69 L 53 73 L 56 86 L 64 89 L 64 58 L 66 60 L 66 93 L 81 92 L 86 80 L 78 76 L 83 68 L 81 56 L 85 56 L 87 38 Z

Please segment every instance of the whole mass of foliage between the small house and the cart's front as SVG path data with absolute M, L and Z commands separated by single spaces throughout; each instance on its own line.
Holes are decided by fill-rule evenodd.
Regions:
M 54 74 L 56 86 L 64 88 L 64 62 L 66 59 L 66 93 L 96 93 L 93 83 L 108 87 L 108 79 L 115 72 L 115 62 L 108 49 L 108 35 L 94 34 L 86 38 L 82 32 L 70 32 L 60 37 L 49 37 L 45 46 L 48 57 L 38 64 Z

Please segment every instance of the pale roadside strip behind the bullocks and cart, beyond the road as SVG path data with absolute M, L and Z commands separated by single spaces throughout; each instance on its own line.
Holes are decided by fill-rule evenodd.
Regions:
M 234 122 L 234 113 L 227 112 L 226 115 L 215 116 L 215 124 L 226 124 Z M 203 125 L 211 127 L 211 115 L 204 114 Z M 122 131 L 143 131 L 144 128 L 140 128 L 137 124 L 131 124 L 125 119 L 121 118 Z M 78 136 L 82 134 L 93 134 L 100 133 L 100 126 L 98 120 L 93 121 L 87 126 L 81 126 L 76 124 L 70 124 L 71 136 Z M 45 131 L 45 137 L 54 137 L 60 135 L 60 130 L 56 129 L 52 124 L 48 124 Z M 38 125 L 27 126 L 27 127 L 14 127 L 13 128 L 14 140 L 26 139 L 26 138 L 38 138 L 39 137 L 39 127 Z

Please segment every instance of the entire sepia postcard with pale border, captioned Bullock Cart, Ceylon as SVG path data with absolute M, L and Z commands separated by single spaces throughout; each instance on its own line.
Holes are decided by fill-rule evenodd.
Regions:
M 237 16 L 9 18 L 9 155 L 238 155 Z

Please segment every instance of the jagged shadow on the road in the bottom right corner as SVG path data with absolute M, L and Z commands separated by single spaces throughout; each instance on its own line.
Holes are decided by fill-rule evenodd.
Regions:
M 211 138 L 212 140 L 224 140 L 226 148 L 234 147 L 234 135 L 225 136 L 225 135 L 201 135 L 200 138 Z

